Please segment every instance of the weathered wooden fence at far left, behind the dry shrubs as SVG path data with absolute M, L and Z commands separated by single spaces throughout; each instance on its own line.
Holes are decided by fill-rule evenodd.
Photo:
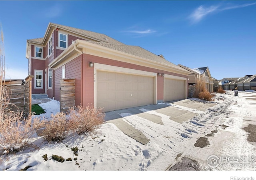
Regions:
M 26 117 L 31 113 L 31 87 L 33 77 L 28 76 L 25 78 L 25 81 L 18 79 L 5 80 L 4 82 L 8 88 L 8 97 L 10 99 L 8 108 L 12 111 L 24 111 Z

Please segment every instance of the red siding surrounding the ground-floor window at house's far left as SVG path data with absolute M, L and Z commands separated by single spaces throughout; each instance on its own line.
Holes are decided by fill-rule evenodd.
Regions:
M 38 59 L 31 59 L 31 75 L 35 75 L 35 70 L 42 70 L 43 71 L 43 88 L 42 89 L 36 89 L 35 88 L 35 77 L 32 79 L 32 94 L 44 94 L 44 60 L 38 60 Z

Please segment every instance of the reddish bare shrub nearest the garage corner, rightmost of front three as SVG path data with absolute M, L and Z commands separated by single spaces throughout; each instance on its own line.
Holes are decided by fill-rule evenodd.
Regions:
M 70 130 L 77 134 L 91 134 L 105 121 L 102 109 L 94 108 L 92 105 L 70 108 L 69 112 Z

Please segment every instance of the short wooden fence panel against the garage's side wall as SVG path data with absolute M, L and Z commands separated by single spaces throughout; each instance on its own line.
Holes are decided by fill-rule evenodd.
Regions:
M 75 106 L 75 79 L 60 80 L 60 112 Z

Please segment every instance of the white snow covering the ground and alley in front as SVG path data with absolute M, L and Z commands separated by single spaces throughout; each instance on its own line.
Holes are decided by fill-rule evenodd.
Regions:
M 228 170 L 229 173 L 242 170 L 240 173 L 246 172 L 243 176 L 251 176 L 250 173 L 256 170 L 253 158 L 256 154 L 256 143 L 247 141 L 248 132 L 243 128 L 249 124 L 256 125 L 256 93 L 238 92 L 238 96 L 234 96 L 233 91 L 228 91 L 226 94 L 216 93 L 215 99 L 216 106 L 208 108 L 205 112 L 179 106 L 198 113 L 198 116 L 182 124 L 154 110 L 141 109 L 142 112 L 162 117 L 164 126 L 136 114 L 120 114 L 125 121 L 128 120 L 137 129 L 147 132 L 145 136 L 150 142 L 145 145 L 128 137 L 111 123 L 104 123 L 95 136 L 85 137 L 70 133 L 58 143 L 49 144 L 42 137 L 35 135 L 33 141 L 39 148 L 10 154 L 8 158 L 2 156 L 0 170 L 17 171 L 31 166 L 27 171 L 164 171 L 182 162 L 183 157 L 187 157 L 196 160 L 200 170 L 212 170 L 216 173 L 222 170 Z M 48 118 L 50 114 L 59 111 L 59 102 L 56 100 L 40 106 L 45 109 L 46 114 L 39 116 Z M 201 145 L 204 146 L 207 140 L 208 144 L 206 143 L 204 147 L 196 147 L 194 144 L 202 138 L 204 142 Z M 78 156 L 71 150 L 74 147 L 79 149 Z M 42 158 L 45 154 L 48 157 L 47 161 Z M 65 160 L 71 158 L 72 161 L 57 162 L 52 159 L 53 154 L 62 156 Z M 231 165 L 222 163 L 216 168 L 210 168 L 207 164 L 210 155 L 229 157 L 231 161 L 238 158 L 239 164 L 248 162 L 249 165 L 234 166 L 232 163 Z M 200 172 L 205 174 L 203 171 Z M 188 173 L 178 176 L 184 175 L 192 179 L 193 177 Z M 229 179 L 232 175 L 241 176 L 233 172 L 228 174 Z M 153 177 L 151 173 L 150 177 Z M 210 178 L 212 175 L 208 177 Z M 196 179 L 200 179 L 200 176 Z

